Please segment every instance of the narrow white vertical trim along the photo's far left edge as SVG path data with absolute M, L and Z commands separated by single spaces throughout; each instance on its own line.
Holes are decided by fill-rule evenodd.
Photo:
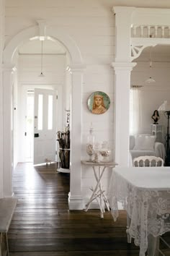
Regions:
M 3 172 L 3 80 L 2 56 L 4 49 L 4 0 L 0 0 L 0 198 L 4 197 L 4 172 Z

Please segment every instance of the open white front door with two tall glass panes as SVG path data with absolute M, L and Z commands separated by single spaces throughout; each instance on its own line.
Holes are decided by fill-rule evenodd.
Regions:
M 55 161 L 56 92 L 35 89 L 34 164 Z

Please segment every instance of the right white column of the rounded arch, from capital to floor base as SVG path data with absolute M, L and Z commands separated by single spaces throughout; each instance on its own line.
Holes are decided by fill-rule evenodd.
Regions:
M 71 66 L 71 178 L 68 204 L 70 210 L 83 209 L 81 195 L 81 106 L 83 66 Z

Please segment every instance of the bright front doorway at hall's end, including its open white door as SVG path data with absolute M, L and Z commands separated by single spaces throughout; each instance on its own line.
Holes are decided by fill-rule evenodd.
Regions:
M 33 164 L 57 161 L 57 90 L 35 86 L 23 90 L 23 156 Z

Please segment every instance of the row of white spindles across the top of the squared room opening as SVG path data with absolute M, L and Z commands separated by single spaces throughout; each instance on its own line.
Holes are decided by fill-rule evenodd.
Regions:
M 170 25 L 133 25 L 131 38 L 170 38 Z

